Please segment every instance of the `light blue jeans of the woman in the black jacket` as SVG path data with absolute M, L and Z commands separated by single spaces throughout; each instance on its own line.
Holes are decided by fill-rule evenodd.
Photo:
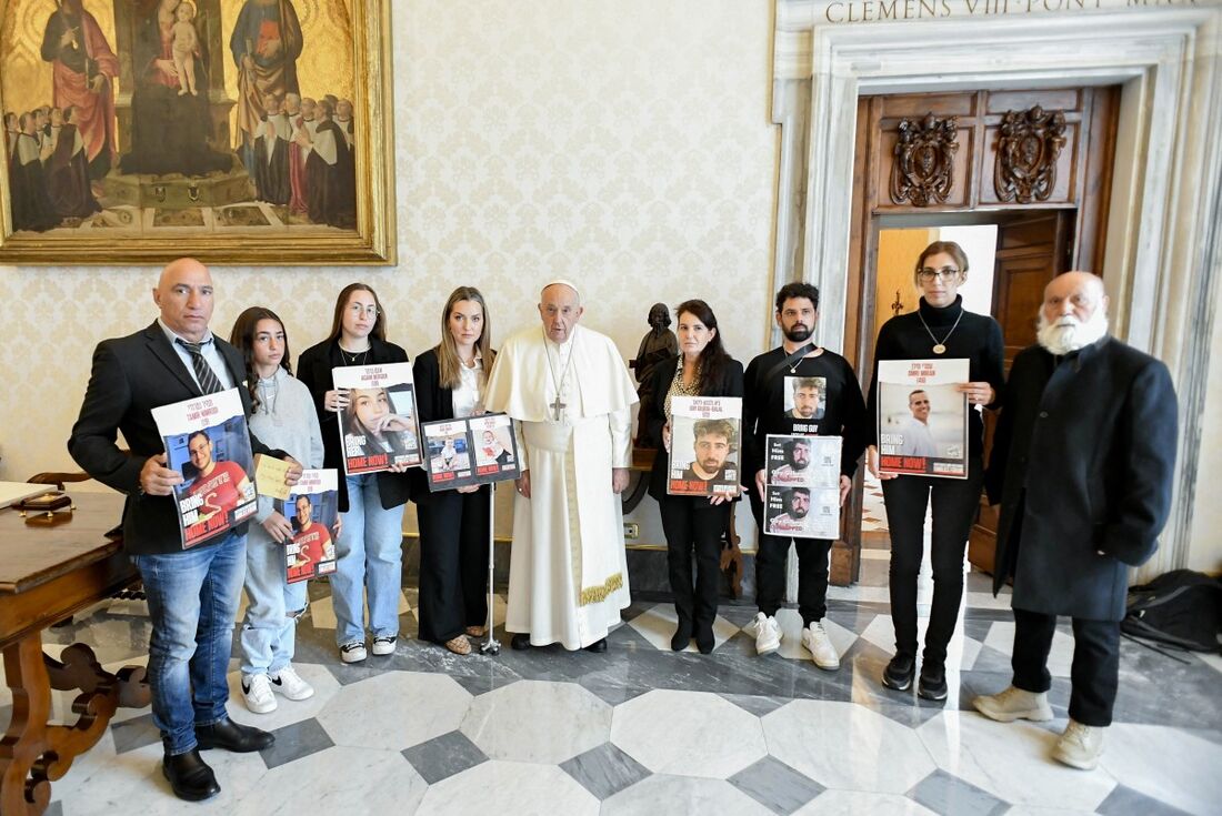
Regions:
M 343 514 L 331 575 L 335 643 L 341 646 L 365 639 L 365 591 L 374 636 L 398 635 L 398 599 L 403 590 L 403 506 L 381 506 L 378 474 L 347 476 L 347 484 L 348 512 Z

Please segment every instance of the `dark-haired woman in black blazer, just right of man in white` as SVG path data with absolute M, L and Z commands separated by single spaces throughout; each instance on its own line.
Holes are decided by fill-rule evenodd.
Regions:
M 671 397 L 742 397 L 743 364 L 730 357 L 717 332 L 717 318 L 704 301 L 686 301 L 678 318 L 679 355 L 659 363 L 650 380 L 653 409 L 642 419 L 644 434 L 656 448 L 649 495 L 657 500 L 666 533 L 666 558 L 678 627 L 671 649 L 688 647 L 695 635 L 701 654 L 712 651 L 712 621 L 717 614 L 721 536 L 730 522 L 725 496 L 670 496 L 667 452 L 671 448 Z M 738 440 L 731 442 L 734 457 Z M 737 461 L 737 457 L 734 458 Z M 692 550 L 695 548 L 695 590 L 692 586 Z

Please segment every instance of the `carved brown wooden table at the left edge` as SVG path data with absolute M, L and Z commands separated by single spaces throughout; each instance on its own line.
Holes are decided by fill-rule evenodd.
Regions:
M 144 668 L 117 676 L 73 644 L 61 661 L 43 654 L 43 629 L 139 580 L 119 540 L 104 533 L 122 514 L 117 494 L 81 494 L 54 519 L 0 511 L 0 647 L 12 718 L 0 740 L 0 814 L 42 814 L 51 782 L 105 733 L 119 706 L 149 704 Z M 51 689 L 76 690 L 77 721 L 48 723 Z

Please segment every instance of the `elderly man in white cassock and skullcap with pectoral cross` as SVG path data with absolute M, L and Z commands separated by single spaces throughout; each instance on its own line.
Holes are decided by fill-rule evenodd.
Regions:
M 577 287 L 544 287 L 541 327 L 501 347 L 484 406 L 513 418 L 522 478 L 513 506 L 512 646 L 604 651 L 628 606 L 618 494 L 628 486 L 637 390 L 610 337 L 578 326 Z

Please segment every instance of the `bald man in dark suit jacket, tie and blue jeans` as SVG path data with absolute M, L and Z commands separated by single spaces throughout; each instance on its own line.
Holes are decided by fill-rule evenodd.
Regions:
M 148 677 L 153 722 L 165 745 L 163 772 L 181 799 L 220 792 L 199 749 L 258 751 L 273 737 L 229 718 L 230 649 L 238 595 L 246 575 L 246 525 L 182 550 L 174 487 L 182 474 L 166 467 L 153 409 L 241 386 L 241 353 L 214 337 L 213 279 L 197 260 L 166 266 L 153 291 L 161 316 L 148 329 L 105 340 L 93 354 L 93 373 L 68 452 L 98 481 L 127 495 L 123 548 L 141 572 L 153 633 Z M 247 414 L 251 397 L 238 387 Z M 116 443 L 122 431 L 131 452 Z M 282 451 L 251 437 L 255 452 L 288 461 L 290 483 L 301 465 Z

